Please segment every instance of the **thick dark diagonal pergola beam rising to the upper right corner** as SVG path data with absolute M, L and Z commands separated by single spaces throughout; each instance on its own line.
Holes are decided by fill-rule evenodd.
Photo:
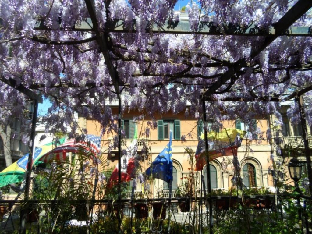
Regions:
M 285 13 L 283 17 L 275 24 L 277 32 L 285 32 L 296 20 L 298 20 L 305 12 L 312 7 L 312 1 L 299 0 L 296 4 Z M 250 58 L 253 59 L 261 53 L 268 45 L 271 44 L 278 36 L 266 37 L 261 46 L 256 47 L 251 51 Z M 234 63 L 233 67 L 229 69 L 202 95 L 203 100 L 208 100 L 210 96 L 216 92 L 222 85 L 224 85 L 232 76 L 246 66 L 246 59 L 241 58 Z

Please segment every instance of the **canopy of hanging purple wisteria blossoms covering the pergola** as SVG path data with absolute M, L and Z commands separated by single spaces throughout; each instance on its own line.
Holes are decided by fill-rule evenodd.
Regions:
M 43 117 L 47 130 L 65 132 L 70 126 L 71 137 L 77 135 L 77 114 L 99 121 L 103 133 L 117 132 L 118 116 L 111 109 L 117 100 L 116 84 L 123 110 L 151 117 L 149 129 L 157 126 L 155 113 L 182 112 L 188 118 L 201 118 L 202 94 L 216 85 L 206 109 L 207 119 L 214 119 L 217 125 L 226 119 L 241 119 L 251 126 L 256 116 L 272 114 L 276 124 L 281 124 L 280 101 L 304 94 L 305 102 L 310 102 L 311 37 L 280 36 L 251 56 L 295 1 L 189 3 L 190 33 L 168 34 L 168 28 L 182 22 L 174 11 L 176 4 L 171 0 L 1 1 L 1 80 L 12 79 L 49 97 L 52 106 Z M 90 5 L 95 14 L 90 14 Z M 97 28 L 92 26 L 95 21 Z M 293 25 L 309 26 L 311 22 L 310 15 L 304 14 Z M 259 35 L 229 33 L 240 28 L 243 33 L 249 26 L 255 26 Z M 203 27 L 222 36 L 199 33 Z M 237 61 L 243 61 L 239 69 Z M 233 76 L 220 83 L 233 69 L 237 70 Z M 25 123 L 22 139 L 27 142 L 27 97 L 2 81 L 0 134 L 2 138 L 10 135 L 8 119 L 18 118 Z M 270 98 L 279 101 L 267 102 Z M 312 105 L 304 108 L 312 124 L 308 117 Z M 299 121 L 296 103 L 287 114 L 293 123 Z M 269 132 L 253 131 L 251 134 L 272 138 Z M 114 139 L 113 147 L 116 142 Z

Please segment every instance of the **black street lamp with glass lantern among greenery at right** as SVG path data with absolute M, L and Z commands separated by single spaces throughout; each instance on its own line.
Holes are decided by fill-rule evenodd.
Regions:
M 298 181 L 301 178 L 301 169 L 302 169 L 302 165 L 300 164 L 297 158 L 290 159 L 290 162 L 288 163 L 289 175 L 290 175 L 290 178 L 292 178 L 295 182 L 295 191 L 298 192 L 300 195 L 302 193 L 300 191 Z M 302 222 L 300 196 L 297 196 L 297 206 L 298 206 L 298 219 Z

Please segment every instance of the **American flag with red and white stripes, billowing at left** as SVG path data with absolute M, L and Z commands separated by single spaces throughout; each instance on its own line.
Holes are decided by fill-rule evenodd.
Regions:
M 93 158 L 97 157 L 100 152 L 101 136 L 85 135 L 81 139 L 69 139 L 64 144 L 61 144 L 55 149 L 42 155 L 39 161 L 47 163 L 51 158 L 56 157 L 56 161 L 65 160 L 66 153 L 85 153 L 92 155 Z

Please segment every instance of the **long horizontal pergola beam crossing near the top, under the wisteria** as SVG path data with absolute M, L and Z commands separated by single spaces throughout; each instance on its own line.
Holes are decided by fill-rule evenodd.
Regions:
M 308 1 L 307 1 L 308 2 Z M 299 9 L 300 10 L 300 9 Z M 292 11 L 294 14 L 296 11 Z M 300 11 L 298 11 L 300 12 Z M 286 20 L 285 20 L 286 21 Z M 287 23 L 287 22 L 286 22 Z M 125 29 L 124 22 L 117 20 L 115 23 L 106 25 L 104 32 L 115 32 L 115 33 L 136 33 L 136 20 L 133 20 L 132 27 Z M 149 25 L 149 24 L 148 24 Z M 62 28 L 61 30 L 66 31 L 80 31 L 90 32 L 94 31 L 93 21 L 91 18 L 87 18 L 86 22 L 76 24 L 72 28 Z M 250 26 L 233 25 L 232 23 L 217 25 L 214 22 L 201 21 L 199 23 L 198 31 L 194 32 L 190 30 L 190 22 L 187 18 L 181 19 L 176 22 L 166 22 L 160 29 L 158 24 L 154 23 L 152 27 L 147 28 L 147 32 L 160 33 L 160 34 L 191 34 L 191 35 L 219 35 L 219 36 L 255 36 L 255 37 L 270 37 L 270 36 L 289 36 L 289 37 L 311 37 L 311 27 L 286 27 L 284 30 L 280 30 L 278 25 L 271 25 L 267 28 L 259 28 L 252 24 Z M 38 22 L 35 30 L 51 30 L 44 26 L 44 22 Z

